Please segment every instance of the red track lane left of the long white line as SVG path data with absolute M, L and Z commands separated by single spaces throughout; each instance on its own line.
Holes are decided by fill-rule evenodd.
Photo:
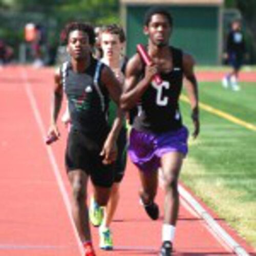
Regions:
M 0 255 L 79 255 L 19 68 L 0 80 Z

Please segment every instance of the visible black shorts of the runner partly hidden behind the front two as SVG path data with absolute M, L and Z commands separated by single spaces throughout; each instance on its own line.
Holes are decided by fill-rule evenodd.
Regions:
M 117 139 L 117 159 L 114 163 L 114 182 L 121 182 L 126 167 L 127 134 L 123 126 Z

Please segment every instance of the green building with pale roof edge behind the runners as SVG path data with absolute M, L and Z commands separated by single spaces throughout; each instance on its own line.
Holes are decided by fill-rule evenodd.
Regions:
M 126 53 L 131 56 L 138 43 L 146 44 L 143 17 L 147 8 L 162 5 L 174 17 L 172 45 L 195 56 L 199 65 L 219 65 L 223 51 L 224 0 L 120 0 L 126 30 Z

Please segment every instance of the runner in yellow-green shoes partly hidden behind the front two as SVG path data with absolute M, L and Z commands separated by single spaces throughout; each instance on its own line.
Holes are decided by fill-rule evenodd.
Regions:
M 123 85 L 124 72 L 125 72 L 125 60 L 123 58 L 122 48 L 125 41 L 125 35 L 123 29 L 116 24 L 107 25 L 100 29 L 99 47 L 102 56 L 100 61 L 108 65 L 115 73 L 116 78 Z M 111 100 L 109 104 L 109 123 L 112 125 L 115 121 L 117 107 Z M 99 227 L 100 248 L 104 250 L 113 249 L 113 239 L 111 231 L 111 223 L 114 218 L 115 211 L 117 209 L 120 192 L 120 183 L 124 176 L 124 170 L 126 166 L 126 125 L 125 120 L 120 130 L 117 139 L 118 154 L 114 163 L 114 183 L 112 185 L 112 193 L 109 203 L 103 209 L 97 205 L 94 200 L 94 195 L 91 196 L 90 203 L 90 220 L 94 226 Z

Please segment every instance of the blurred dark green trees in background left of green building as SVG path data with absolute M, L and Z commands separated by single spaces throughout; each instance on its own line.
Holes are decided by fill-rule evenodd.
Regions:
M 60 30 L 71 20 L 94 25 L 119 23 L 119 0 L 0 0 L 0 36 L 16 54 L 26 23 L 43 24 L 49 44 L 56 45 Z

